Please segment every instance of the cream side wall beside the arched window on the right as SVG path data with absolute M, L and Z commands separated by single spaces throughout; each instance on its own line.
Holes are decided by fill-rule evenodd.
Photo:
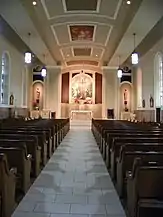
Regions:
M 163 38 L 139 62 L 139 67 L 142 69 L 142 99 L 145 99 L 145 109 L 150 109 L 150 94 L 154 97 L 154 59 L 159 51 L 163 52 Z

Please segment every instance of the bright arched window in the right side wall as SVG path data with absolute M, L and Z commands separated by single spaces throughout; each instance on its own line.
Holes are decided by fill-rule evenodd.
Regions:
M 155 56 L 154 70 L 154 90 L 155 90 L 155 106 L 163 107 L 163 55 L 157 53 Z

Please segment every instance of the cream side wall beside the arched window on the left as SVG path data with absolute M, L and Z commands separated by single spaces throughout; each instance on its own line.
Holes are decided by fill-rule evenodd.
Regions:
M 7 51 L 10 56 L 9 96 L 10 93 L 13 92 L 14 98 L 16 99 L 16 106 L 22 107 L 22 71 L 25 67 L 24 56 L 9 41 L 0 35 L 0 61 L 4 51 Z

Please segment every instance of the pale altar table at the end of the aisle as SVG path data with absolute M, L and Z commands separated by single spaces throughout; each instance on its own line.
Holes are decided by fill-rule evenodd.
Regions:
M 92 111 L 89 110 L 71 110 L 71 120 L 91 120 Z

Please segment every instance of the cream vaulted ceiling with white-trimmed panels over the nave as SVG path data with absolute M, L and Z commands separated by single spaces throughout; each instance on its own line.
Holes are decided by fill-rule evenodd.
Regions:
M 134 49 L 133 33 L 138 46 L 163 17 L 162 0 L 131 0 L 130 5 L 126 0 L 32 2 L 0 0 L 0 14 L 38 58 L 52 66 L 117 66 L 118 56 L 124 62 Z

